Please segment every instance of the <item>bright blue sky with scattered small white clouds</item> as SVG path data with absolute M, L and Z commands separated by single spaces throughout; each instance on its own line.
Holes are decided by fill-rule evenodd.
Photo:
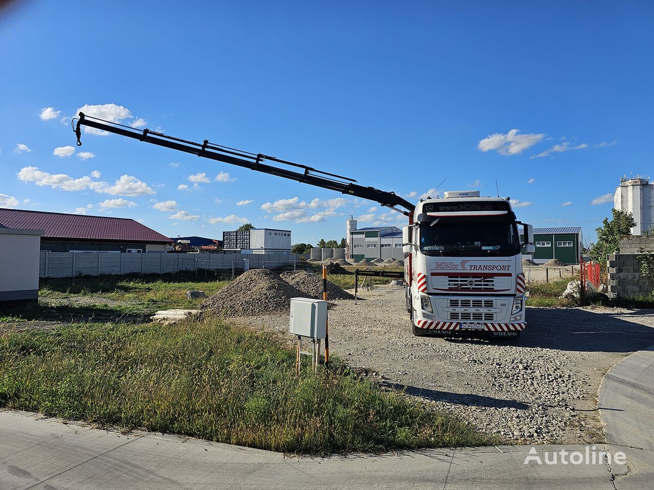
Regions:
M 0 207 L 316 244 L 405 217 L 306 184 L 84 133 L 80 109 L 394 191 L 510 197 L 534 227 L 610 215 L 650 176 L 649 2 L 18 1 L 0 10 Z M 444 184 L 439 184 L 445 180 Z

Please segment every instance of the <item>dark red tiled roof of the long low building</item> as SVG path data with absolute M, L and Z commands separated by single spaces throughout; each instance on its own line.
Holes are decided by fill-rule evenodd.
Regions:
M 151 228 L 129 218 L 0 208 L 0 226 L 44 230 L 43 238 L 170 243 Z

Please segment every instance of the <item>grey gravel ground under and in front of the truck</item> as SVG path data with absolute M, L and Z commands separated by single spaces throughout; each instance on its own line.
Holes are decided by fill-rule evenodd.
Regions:
M 377 286 L 330 308 L 330 347 L 382 384 L 405 387 L 504 440 L 535 444 L 602 442 L 597 411 L 604 374 L 628 353 L 654 344 L 654 311 L 528 308 L 512 343 L 411 335 L 404 288 Z M 237 319 L 288 335 L 288 315 Z

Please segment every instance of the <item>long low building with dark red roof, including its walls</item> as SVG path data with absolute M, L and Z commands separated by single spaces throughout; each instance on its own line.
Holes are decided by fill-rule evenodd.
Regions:
M 172 244 L 129 218 L 0 208 L 0 226 L 43 230 L 45 252 L 165 252 Z

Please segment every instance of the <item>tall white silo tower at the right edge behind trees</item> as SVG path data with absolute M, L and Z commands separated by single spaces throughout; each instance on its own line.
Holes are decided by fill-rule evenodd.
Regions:
M 613 207 L 632 214 L 636 221 L 636 226 L 631 229 L 632 235 L 642 235 L 654 229 L 653 195 L 654 184 L 649 184 L 649 179 L 640 176 L 620 179 L 620 186 L 615 189 Z

